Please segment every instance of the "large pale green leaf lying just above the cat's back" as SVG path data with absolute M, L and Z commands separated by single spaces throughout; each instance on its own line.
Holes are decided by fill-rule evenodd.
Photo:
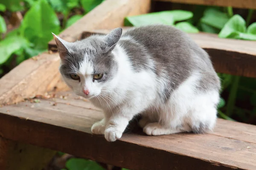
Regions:
M 153 12 L 125 17 L 125 26 L 145 26 L 150 24 L 166 24 L 173 26 L 176 21 L 188 20 L 192 17 L 192 12 L 183 10 Z

